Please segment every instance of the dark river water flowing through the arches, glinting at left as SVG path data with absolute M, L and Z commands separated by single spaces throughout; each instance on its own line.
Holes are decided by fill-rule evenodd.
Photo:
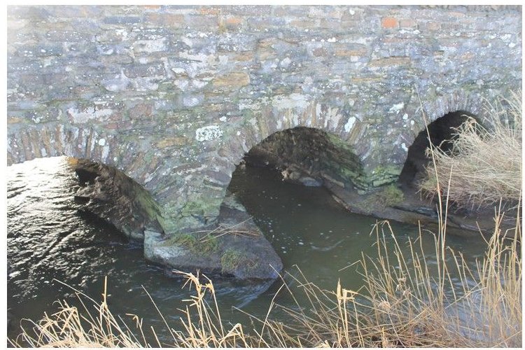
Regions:
M 20 319 L 41 318 L 56 311 L 55 300 L 75 299 L 74 291 L 99 300 L 108 277 L 108 302 L 113 314 L 138 314 L 149 328 L 163 334 L 163 323 L 144 288 L 172 327 L 181 317 L 181 300 L 191 292 L 183 280 L 166 274 L 143 258 L 140 244 L 128 241 L 110 225 L 79 211 L 73 202 L 78 179 L 66 158 L 32 160 L 7 172 L 8 336 L 20 331 Z M 230 190 L 237 195 L 283 260 L 286 271 L 302 274 L 323 288 L 357 290 L 362 284 L 356 267 L 361 254 L 374 257 L 377 247 L 370 232 L 377 219 L 350 214 L 324 188 L 307 188 L 281 181 L 267 168 L 238 167 Z M 417 228 L 392 223 L 401 244 L 415 238 Z M 430 234 L 423 236 L 428 257 Z M 482 258 L 482 239 L 449 237 L 447 244 L 475 264 Z M 239 307 L 264 318 L 280 283 L 242 283 L 214 278 L 221 314 L 243 319 Z M 283 297 L 282 304 L 292 302 Z

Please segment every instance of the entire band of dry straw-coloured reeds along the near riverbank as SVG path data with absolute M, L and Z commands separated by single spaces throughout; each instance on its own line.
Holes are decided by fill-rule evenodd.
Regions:
M 66 302 L 56 314 L 29 322 L 13 345 L 39 346 L 174 346 L 174 347 L 521 347 L 521 221 L 513 235 L 500 232 L 504 213 L 496 213 L 495 232 L 486 255 L 472 270 L 445 244 L 446 232 L 435 235 L 435 258 L 428 259 L 421 239 L 409 242 L 411 254 L 395 238 L 390 225 L 378 223 L 377 258 L 363 256 L 360 271 L 365 287 L 350 290 L 337 283 L 325 290 L 302 276 L 283 283 L 295 306 L 274 303 L 265 318 L 255 318 L 255 329 L 237 323 L 225 325 L 213 283 L 186 274 L 195 293 L 181 311 L 179 325 L 165 327 L 172 341 L 149 344 L 142 321 L 131 316 L 128 326 L 109 311 L 105 292 L 101 304 L 83 302 L 83 310 Z M 425 233 L 426 234 L 426 233 Z M 427 234 L 428 235 L 428 234 Z M 512 238 L 508 238 L 512 237 Z M 456 279 L 454 279 L 456 276 Z M 284 279 L 283 279 L 284 280 Z M 292 285 L 295 285 L 292 287 Z M 81 294 L 81 293 L 79 293 Z M 300 295 L 302 294 L 302 295 Z M 302 300 L 302 301 L 300 301 Z M 307 300 L 307 302 L 304 302 Z M 152 300 L 153 302 L 153 300 Z M 286 314 L 273 318 L 275 309 Z M 160 317 L 162 313 L 159 311 Z M 249 335 L 248 335 L 249 333 Z M 151 334 L 155 335 L 152 329 Z M 136 336 L 139 335 L 139 336 Z

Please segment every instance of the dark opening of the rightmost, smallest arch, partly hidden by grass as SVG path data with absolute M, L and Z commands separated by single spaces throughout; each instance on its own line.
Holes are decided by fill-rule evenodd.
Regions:
M 415 188 L 423 179 L 425 167 L 431 161 L 426 155 L 430 143 L 442 151 L 450 152 L 456 137 L 456 129 L 469 118 L 475 118 L 467 111 L 450 112 L 428 124 L 428 134 L 422 130 L 408 148 L 407 160 L 399 176 L 399 183 L 408 188 Z M 428 137 L 430 136 L 430 140 Z

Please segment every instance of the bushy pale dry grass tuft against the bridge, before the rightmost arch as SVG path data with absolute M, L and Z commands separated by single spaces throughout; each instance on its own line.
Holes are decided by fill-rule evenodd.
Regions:
M 458 127 L 453 150 L 428 149 L 435 163 L 426 169 L 423 193 L 435 195 L 449 186 L 450 200 L 463 207 L 497 204 L 501 198 L 511 206 L 521 189 L 521 93 L 486 105 L 485 127 L 470 118 Z M 435 164 L 435 166 L 434 166 Z M 437 174 L 437 177 L 436 177 Z

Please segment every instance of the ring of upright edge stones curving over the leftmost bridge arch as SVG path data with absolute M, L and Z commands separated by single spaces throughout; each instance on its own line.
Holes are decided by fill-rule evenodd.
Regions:
M 155 160 L 152 152 L 153 150 L 141 149 L 140 144 L 134 141 L 123 141 L 122 137 L 116 134 L 86 125 L 36 124 L 19 127 L 15 132 L 11 132 L 7 139 L 8 165 L 35 158 L 75 158 L 77 162 L 74 169 L 89 169 L 90 172 L 98 174 L 105 172 L 104 176 L 111 178 L 106 179 L 108 181 L 114 180 L 120 184 L 129 181 L 134 183 L 133 186 L 141 188 L 134 191 L 136 198 L 130 197 L 128 202 L 148 202 L 156 207 L 158 203 L 154 202 L 157 200 L 157 193 L 149 186 L 153 180 L 150 172 L 158 165 L 157 162 L 151 161 Z M 145 210 L 143 205 L 139 204 L 139 207 Z M 159 209 L 162 211 L 162 206 Z M 160 225 L 156 226 L 156 229 L 163 230 L 162 214 L 158 214 L 158 217 L 155 215 L 152 219 Z M 126 234 L 129 235 L 127 232 Z

